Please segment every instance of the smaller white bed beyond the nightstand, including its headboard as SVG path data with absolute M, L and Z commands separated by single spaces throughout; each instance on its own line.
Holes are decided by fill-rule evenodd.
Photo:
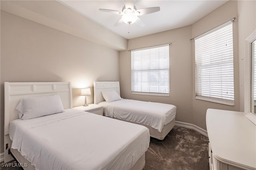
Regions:
M 104 115 L 144 125 L 150 130 L 151 137 L 160 140 L 174 127 L 176 106 L 121 98 L 106 102 L 102 93 L 113 90 L 120 95 L 119 82 L 94 82 L 94 104 L 103 106 Z

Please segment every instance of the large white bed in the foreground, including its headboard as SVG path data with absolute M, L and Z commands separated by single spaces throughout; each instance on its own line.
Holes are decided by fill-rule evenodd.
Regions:
M 8 154 L 11 148 L 18 162 L 28 163 L 29 167 L 24 169 L 141 170 L 144 167 L 150 142 L 148 129 L 71 109 L 69 82 L 5 82 L 4 88 L 4 162 L 13 159 Z M 19 119 L 16 106 L 22 99 L 37 100 L 54 94 L 60 97 L 64 112 Z M 25 105 L 23 100 L 24 108 Z M 28 115 L 33 115 L 29 107 Z

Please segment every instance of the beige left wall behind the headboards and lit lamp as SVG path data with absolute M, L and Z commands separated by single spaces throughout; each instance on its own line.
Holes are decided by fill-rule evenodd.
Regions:
M 119 52 L 1 11 L 1 94 L 4 82 L 71 81 L 73 106 L 84 103 L 82 87 L 119 80 Z M 3 104 L 1 95 L 1 150 Z M 93 103 L 93 94 L 88 96 Z

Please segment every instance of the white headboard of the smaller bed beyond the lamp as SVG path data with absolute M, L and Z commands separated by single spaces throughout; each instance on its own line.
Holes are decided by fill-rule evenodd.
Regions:
M 101 94 L 102 91 L 116 90 L 120 95 L 119 82 L 93 82 L 94 85 L 94 104 L 104 102 L 104 98 Z

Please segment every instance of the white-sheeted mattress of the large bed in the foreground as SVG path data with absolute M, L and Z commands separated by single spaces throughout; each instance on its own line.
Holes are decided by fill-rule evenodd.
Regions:
M 36 169 L 130 169 L 149 147 L 146 127 L 66 109 L 10 122 L 12 148 Z

